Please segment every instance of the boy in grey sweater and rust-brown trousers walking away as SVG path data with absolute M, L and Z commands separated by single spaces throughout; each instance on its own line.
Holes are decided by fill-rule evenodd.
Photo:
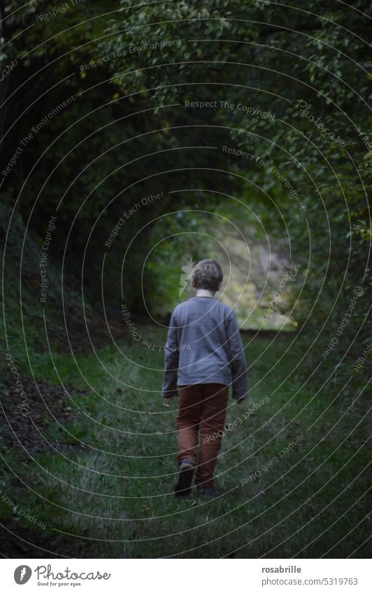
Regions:
M 179 396 L 179 474 L 175 495 L 216 496 L 213 471 L 220 451 L 228 386 L 240 404 L 247 394 L 247 365 L 232 309 L 214 298 L 222 286 L 217 261 L 203 259 L 192 274 L 196 296 L 174 309 L 165 345 L 163 395 Z M 201 446 L 198 451 L 198 432 Z

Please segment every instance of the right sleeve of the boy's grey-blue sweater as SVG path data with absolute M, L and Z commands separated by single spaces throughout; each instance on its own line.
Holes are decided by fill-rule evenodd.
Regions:
M 247 395 L 247 363 L 234 311 L 227 315 L 227 345 L 230 353 L 231 386 L 234 400 Z

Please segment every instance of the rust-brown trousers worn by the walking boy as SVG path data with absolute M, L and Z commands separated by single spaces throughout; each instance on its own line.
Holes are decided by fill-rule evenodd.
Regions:
M 197 383 L 178 387 L 178 461 L 188 460 L 196 464 L 196 485 L 213 485 L 228 392 L 228 387 L 221 383 Z

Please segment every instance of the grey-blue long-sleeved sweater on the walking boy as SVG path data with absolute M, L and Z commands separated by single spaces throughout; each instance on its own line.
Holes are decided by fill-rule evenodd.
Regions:
M 195 383 L 231 383 L 234 399 L 247 395 L 247 365 L 236 316 L 219 300 L 199 296 L 177 305 L 164 352 L 164 396 Z

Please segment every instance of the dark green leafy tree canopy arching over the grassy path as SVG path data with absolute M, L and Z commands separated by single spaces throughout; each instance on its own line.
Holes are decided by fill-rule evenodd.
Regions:
M 129 245 L 127 298 L 141 309 L 135 270 L 148 250 L 162 243 L 146 259 L 155 294 L 177 254 L 203 252 L 183 230 L 228 220 L 257 244 L 269 233 L 301 267 L 298 323 L 337 316 L 370 282 L 367 10 L 363 0 L 2 3 L 2 191 L 37 232 L 58 209 L 71 260 L 89 243 L 87 277 L 122 212 L 163 192 L 106 249 L 113 302 Z

